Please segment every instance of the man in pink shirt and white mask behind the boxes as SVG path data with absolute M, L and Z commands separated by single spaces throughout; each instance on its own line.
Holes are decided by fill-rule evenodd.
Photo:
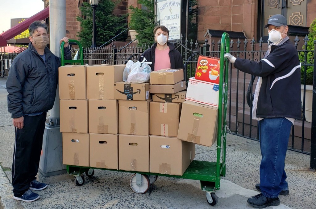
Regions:
M 143 57 L 148 62 L 152 62 L 150 66 L 151 71 L 158 71 L 165 68 L 184 68 L 183 59 L 180 52 L 175 49 L 172 43 L 168 43 L 169 30 L 166 26 L 158 25 L 154 28 L 154 45 L 144 51 Z M 139 61 L 143 61 L 140 57 Z

